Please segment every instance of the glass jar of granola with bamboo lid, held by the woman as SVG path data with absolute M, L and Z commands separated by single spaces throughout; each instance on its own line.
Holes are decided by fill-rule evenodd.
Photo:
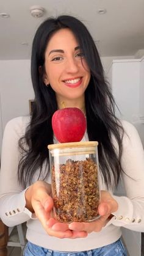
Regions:
M 90 222 L 99 217 L 98 142 L 48 145 L 54 218 Z

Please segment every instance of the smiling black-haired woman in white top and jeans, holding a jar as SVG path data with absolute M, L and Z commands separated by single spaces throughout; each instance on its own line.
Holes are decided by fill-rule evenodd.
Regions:
M 40 25 L 32 45 L 31 75 L 32 116 L 13 119 L 5 127 L 2 221 L 9 226 L 27 221 L 26 256 L 126 255 L 120 227 L 144 230 L 143 148 L 135 128 L 115 117 L 98 51 L 81 21 L 59 16 Z M 89 223 L 63 224 L 51 214 L 47 145 L 57 143 L 51 118 L 63 103 L 86 115 L 83 140 L 99 142 L 100 218 Z M 120 177 L 126 197 L 113 196 Z

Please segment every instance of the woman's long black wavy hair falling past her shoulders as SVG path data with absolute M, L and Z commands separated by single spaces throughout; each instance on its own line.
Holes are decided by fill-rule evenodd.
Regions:
M 123 128 L 115 117 L 115 101 L 92 36 L 85 25 L 73 16 L 62 15 L 45 20 L 34 37 L 31 57 L 31 77 L 35 92 L 35 105 L 31 122 L 19 141 L 23 156 L 19 163 L 18 179 L 24 186 L 31 184 L 32 177 L 45 166 L 45 178 L 49 174 L 48 144 L 53 143 L 51 119 L 57 110 L 57 101 L 51 86 L 43 82 L 45 75 L 45 51 L 51 36 L 59 29 L 69 28 L 84 53 L 91 78 L 85 90 L 87 133 L 90 141 L 98 141 L 99 166 L 104 182 L 117 186 L 121 174 Z M 113 145 L 113 137 L 118 152 Z M 28 145 L 28 147 L 26 146 Z

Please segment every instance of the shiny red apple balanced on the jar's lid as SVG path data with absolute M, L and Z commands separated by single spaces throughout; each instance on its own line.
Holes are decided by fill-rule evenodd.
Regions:
M 86 119 L 79 108 L 59 109 L 52 115 L 52 129 L 60 143 L 81 141 Z

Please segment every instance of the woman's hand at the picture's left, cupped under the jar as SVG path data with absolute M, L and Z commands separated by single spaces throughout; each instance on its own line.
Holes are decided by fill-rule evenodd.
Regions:
M 68 224 L 60 223 L 52 218 L 53 200 L 49 195 L 51 195 L 51 185 L 45 181 L 36 181 L 25 192 L 26 208 L 35 213 L 48 235 L 57 238 L 87 236 L 87 232 L 70 230 Z M 59 230 L 54 230 L 53 225 L 58 225 Z

